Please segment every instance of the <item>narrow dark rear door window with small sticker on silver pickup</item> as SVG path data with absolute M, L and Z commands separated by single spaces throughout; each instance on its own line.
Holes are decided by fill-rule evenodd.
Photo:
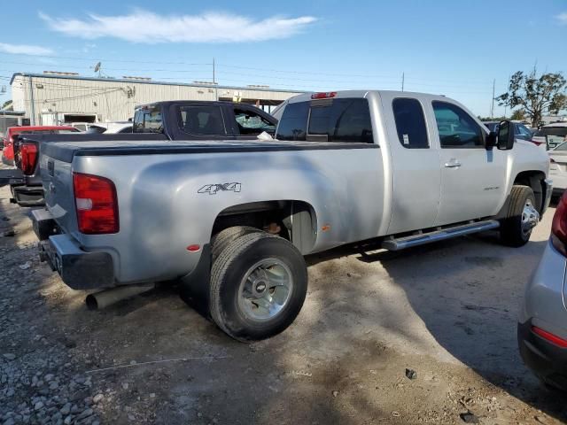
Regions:
M 422 105 L 417 99 L 397 98 L 392 101 L 393 118 L 398 139 L 404 148 L 429 148 Z

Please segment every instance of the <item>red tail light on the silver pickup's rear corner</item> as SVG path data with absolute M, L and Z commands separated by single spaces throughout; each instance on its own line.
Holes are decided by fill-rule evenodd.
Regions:
M 98 175 L 73 174 L 79 231 L 85 235 L 118 233 L 118 200 L 114 183 Z

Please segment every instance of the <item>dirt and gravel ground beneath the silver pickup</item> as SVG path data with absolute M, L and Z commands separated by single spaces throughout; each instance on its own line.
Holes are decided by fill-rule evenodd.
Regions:
M 0 198 L 9 219 L 0 220 L 0 423 L 567 419 L 565 399 L 524 367 L 516 340 L 553 209 L 520 249 L 483 235 L 397 254 L 309 257 L 298 320 L 246 345 L 172 287 L 88 311 L 85 292 L 39 263 L 29 210 L 11 205 L 6 187 Z

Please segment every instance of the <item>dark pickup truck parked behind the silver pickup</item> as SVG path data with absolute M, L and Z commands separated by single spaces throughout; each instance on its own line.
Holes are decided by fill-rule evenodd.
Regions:
M 108 140 L 239 140 L 255 139 L 260 133 L 273 135 L 277 120 L 250 104 L 234 104 L 232 102 L 171 101 L 156 104 L 145 104 L 136 107 L 134 114 L 134 133 L 132 125 L 114 126 L 120 135 L 105 132 L 100 135 L 68 135 L 66 137 L 20 137 L 14 143 L 15 163 L 24 174 L 21 181 L 12 185 L 12 202 L 20 206 L 44 205 L 42 179 L 39 164 L 36 160 L 38 143 L 43 140 L 56 142 L 89 141 L 103 142 Z M 91 126 L 91 128 L 104 126 Z M 129 128 L 128 128 L 129 127 Z M 72 128 L 74 130 L 74 128 Z M 75 130 L 78 131 L 78 130 Z M 96 133 L 96 132 L 93 132 Z M 144 133 L 154 136 L 144 136 Z M 155 136 L 159 135 L 159 136 Z

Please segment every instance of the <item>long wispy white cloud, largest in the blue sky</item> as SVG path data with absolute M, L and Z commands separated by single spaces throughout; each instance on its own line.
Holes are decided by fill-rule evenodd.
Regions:
M 115 37 L 128 42 L 258 42 L 290 37 L 315 22 L 312 16 L 274 16 L 254 20 L 230 13 L 158 15 L 137 9 L 128 15 L 89 14 L 87 19 L 52 18 L 39 14 L 49 27 L 86 39 Z

